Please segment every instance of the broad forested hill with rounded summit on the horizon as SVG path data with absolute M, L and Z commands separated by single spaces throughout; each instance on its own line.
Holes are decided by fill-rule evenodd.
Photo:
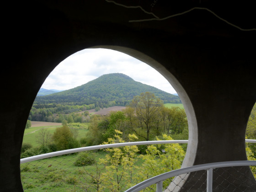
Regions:
M 127 75 L 113 73 L 102 75 L 96 80 L 67 91 L 37 96 L 34 104 L 90 105 L 98 103 L 101 107 L 125 106 L 133 99 L 133 96 L 146 91 L 154 93 L 165 103 L 181 103 L 179 96 L 137 82 Z

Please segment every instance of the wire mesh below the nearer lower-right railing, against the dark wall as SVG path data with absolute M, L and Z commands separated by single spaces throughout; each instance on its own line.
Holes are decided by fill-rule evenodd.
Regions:
M 252 166 L 256 167 L 256 166 Z M 188 175 L 190 176 L 188 178 Z M 183 174 L 180 183 L 176 176 L 164 192 L 206 192 L 207 170 Z M 186 178 L 187 177 L 187 178 Z M 213 192 L 256 192 L 256 180 L 248 166 L 231 166 L 213 169 Z

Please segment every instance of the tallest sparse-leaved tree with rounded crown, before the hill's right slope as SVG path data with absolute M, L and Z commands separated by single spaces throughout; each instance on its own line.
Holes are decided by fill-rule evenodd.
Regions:
M 157 98 L 153 93 L 145 92 L 141 93 L 139 96 L 134 96 L 130 107 L 134 108 L 135 117 L 139 121 L 141 129 L 146 131 L 146 135 L 141 134 L 135 129 L 133 129 L 133 131 L 138 136 L 148 141 L 150 130 L 153 127 L 152 124 L 157 119 L 158 113 L 163 107 L 163 101 Z

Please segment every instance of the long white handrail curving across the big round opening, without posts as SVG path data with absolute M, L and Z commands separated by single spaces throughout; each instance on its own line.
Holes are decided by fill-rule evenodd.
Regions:
M 46 153 L 42 155 L 35 155 L 32 157 L 26 157 L 21 159 L 21 163 L 27 163 L 33 160 L 41 160 L 49 157 L 65 155 L 70 153 L 76 153 L 81 151 L 89 151 L 96 149 L 106 149 L 112 147 L 123 147 L 123 146 L 131 146 L 131 145 L 144 145 L 144 144 L 187 144 L 188 140 L 160 140 L 160 141 L 138 141 L 138 142 L 126 142 L 126 143 L 118 143 L 118 144 L 102 144 L 102 145 L 94 145 L 89 147 L 80 147 L 75 149 L 67 149 L 62 151 L 56 151 L 52 153 Z

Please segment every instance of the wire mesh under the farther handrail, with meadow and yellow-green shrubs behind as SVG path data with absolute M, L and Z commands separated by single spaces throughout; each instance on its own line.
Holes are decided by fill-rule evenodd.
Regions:
M 184 156 L 179 144 L 91 150 L 23 163 L 21 181 L 24 191 L 33 192 L 121 192 L 152 176 L 179 169 Z M 144 191 L 155 191 L 155 185 Z

